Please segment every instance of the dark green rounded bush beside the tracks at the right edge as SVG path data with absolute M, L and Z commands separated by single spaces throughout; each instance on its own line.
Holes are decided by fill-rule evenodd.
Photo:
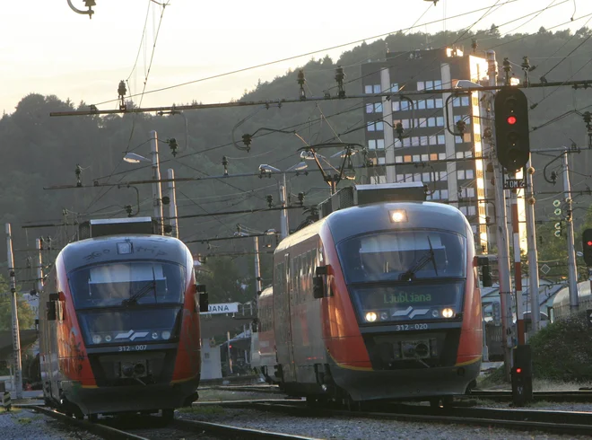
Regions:
M 536 378 L 585 382 L 592 380 L 592 329 L 586 312 L 557 320 L 529 341 Z

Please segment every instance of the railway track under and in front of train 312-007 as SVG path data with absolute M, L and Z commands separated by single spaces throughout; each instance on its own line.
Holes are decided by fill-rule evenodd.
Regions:
M 278 440 L 319 440 L 315 437 L 296 436 L 283 433 L 250 429 L 245 427 L 232 427 L 229 425 L 210 423 L 197 420 L 175 419 L 166 427 L 158 417 L 127 418 L 125 421 L 117 418 L 100 419 L 97 423 L 88 420 L 71 418 L 55 409 L 49 409 L 38 405 L 15 405 L 15 407 L 33 409 L 41 414 L 56 418 L 65 425 L 77 427 L 95 436 L 113 440 L 152 440 L 152 438 L 174 438 L 173 432 L 193 434 L 200 439 L 278 439 Z M 142 420 L 138 423 L 138 420 Z M 118 427 L 115 427 L 118 426 Z M 121 428 L 124 427 L 124 428 Z M 150 434 L 144 434 L 149 431 Z M 138 434 L 139 433 L 139 434 Z M 181 437 L 179 437 L 181 438 Z M 188 438 L 184 436 L 183 438 Z

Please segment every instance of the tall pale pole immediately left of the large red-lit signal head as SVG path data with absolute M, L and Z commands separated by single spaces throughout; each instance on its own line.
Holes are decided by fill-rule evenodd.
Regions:
M 495 51 L 487 51 L 487 61 L 489 64 L 488 75 L 489 85 L 497 85 L 497 62 L 495 60 Z M 495 113 L 493 109 L 494 94 L 491 93 L 491 108 L 492 119 L 495 120 Z M 495 139 L 495 136 L 492 136 Z M 495 142 L 495 141 L 493 141 Z M 493 153 L 492 153 L 493 154 Z M 503 189 L 503 177 L 501 170 L 501 163 L 497 160 L 492 160 L 493 164 L 493 180 L 495 185 L 495 212 L 497 228 L 496 242 L 498 246 L 498 270 L 499 270 L 499 285 L 500 285 L 500 305 L 501 305 L 501 331 L 503 333 L 503 358 L 506 378 L 509 379 L 511 368 L 510 348 L 512 347 L 512 279 L 509 272 L 509 243 L 508 243 L 508 223 L 506 219 L 506 198 Z

